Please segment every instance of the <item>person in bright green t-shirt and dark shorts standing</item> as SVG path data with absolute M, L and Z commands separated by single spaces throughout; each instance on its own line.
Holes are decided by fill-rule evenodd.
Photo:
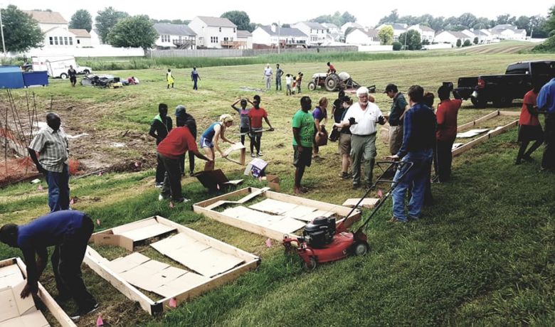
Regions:
M 300 186 L 305 167 L 312 164 L 312 138 L 314 137 L 314 118 L 309 112 L 312 107 L 310 97 L 301 97 L 301 109 L 295 113 L 292 120 L 293 127 L 293 166 L 295 169 L 295 193 L 305 193 Z

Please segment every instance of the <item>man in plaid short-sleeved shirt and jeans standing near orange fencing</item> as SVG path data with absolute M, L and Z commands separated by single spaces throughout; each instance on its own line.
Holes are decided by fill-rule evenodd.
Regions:
M 39 173 L 48 183 L 48 206 L 51 212 L 69 209 L 68 138 L 60 129 L 58 114 L 46 115 L 47 127 L 36 134 L 28 147 Z M 37 159 L 37 154 L 39 157 Z

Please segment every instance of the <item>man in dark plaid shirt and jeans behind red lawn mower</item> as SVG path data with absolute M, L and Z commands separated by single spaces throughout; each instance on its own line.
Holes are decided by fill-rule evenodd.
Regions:
M 403 144 L 397 154 L 386 158 L 408 161 L 413 166 L 401 166 L 393 178 L 398 184 L 392 192 L 393 218 L 389 220 L 391 223 L 408 221 L 405 213 L 405 195 L 411 185 L 413 188 L 411 200 L 408 202 L 408 218 L 420 218 L 426 178 L 429 178 L 428 169 L 432 163 L 435 144 L 435 114 L 430 107 L 423 104 L 424 89 L 420 85 L 413 85 L 408 89 L 408 97 L 411 109 L 408 109 L 403 119 Z

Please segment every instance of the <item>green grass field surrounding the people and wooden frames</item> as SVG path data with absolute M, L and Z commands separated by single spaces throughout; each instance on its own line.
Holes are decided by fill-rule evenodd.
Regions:
M 445 81 L 502 73 L 509 63 L 541 58 L 549 55 L 392 56 L 336 61 L 334 65 L 362 85 L 376 85 L 379 91 L 395 82 L 403 92 L 413 84 L 435 92 Z M 325 71 L 326 61 L 318 57 L 282 68 L 285 73 L 305 73 L 305 87 L 313 73 Z M 159 102 L 170 108 L 185 104 L 201 132 L 220 114 L 232 113 L 230 104 L 238 97 L 252 99 L 258 93 L 276 129 L 262 139 L 264 159 L 270 163 L 267 172 L 280 175 L 282 192 L 291 194 L 290 120 L 300 96 L 285 97 L 285 90 L 241 90 L 263 88 L 260 64 L 203 68 L 198 92 L 191 90 L 189 69 L 168 68 L 176 77 L 173 90 L 166 90 L 164 67 L 110 72 L 139 77 L 142 83 L 134 87 L 71 88 L 67 80 L 54 80 L 33 92 L 41 112 L 46 112 L 54 96 L 54 111 L 63 122 L 70 120 L 74 129 L 90 130 L 95 137 L 110 137 L 110 141 L 118 141 L 118 137 L 126 141 L 121 136 L 125 131 L 147 133 Z M 23 101 L 24 92 L 14 91 L 18 101 Z M 313 103 L 322 96 L 336 97 L 323 90 L 303 90 L 302 94 L 310 95 Z M 387 112 L 391 100 L 379 92 L 376 103 Z M 470 101 L 464 102 L 459 122 L 470 122 L 494 109 L 472 109 Z M 517 111 L 519 104 L 508 109 Z M 234 117 L 238 119 L 237 114 Z M 422 220 L 408 225 L 386 223 L 391 217 L 389 201 L 366 230 L 369 254 L 322 265 L 310 273 L 302 271 L 299 259 L 286 257 L 277 242 L 268 248 L 264 237 L 196 215 L 191 205 L 169 208 L 168 203 L 157 201 L 152 169 L 75 179 L 70 182 L 71 193 L 79 201 L 73 208 L 99 219 L 97 230 L 162 215 L 263 259 L 256 271 L 158 317 L 147 316 L 90 269 L 84 269 L 85 282 L 100 301 L 100 313 L 110 326 L 549 326 L 555 321 L 555 175 L 539 172 L 542 148 L 533 155 L 536 164 L 514 166 L 516 139 L 516 129 L 512 129 L 456 157 L 453 181 L 433 185 L 435 203 L 425 208 Z M 144 143 L 152 146 L 154 153 L 154 141 Z M 307 169 L 303 181 L 310 190 L 304 195 L 307 198 L 341 204 L 362 194 L 351 191 L 350 181 L 337 176 L 336 146 L 322 147 L 322 160 Z M 379 140 L 377 146 L 379 156 L 385 156 L 384 141 Z M 140 159 L 136 152 L 124 149 L 113 154 L 106 149 L 107 156 Z M 243 171 L 221 159 L 216 160 L 216 168 L 222 168 L 230 179 L 241 178 Z M 184 178 L 183 183 L 192 202 L 213 196 L 192 178 Z M 244 185 L 263 184 L 247 178 Z M 46 213 L 46 199 L 45 191 L 28 183 L 2 189 L 1 223 L 26 223 Z M 0 259 L 13 256 L 21 256 L 21 252 L 0 245 Z M 56 294 L 50 267 L 43 281 Z M 73 304 L 63 308 L 75 310 Z M 86 317 L 80 326 L 90 326 L 96 317 Z

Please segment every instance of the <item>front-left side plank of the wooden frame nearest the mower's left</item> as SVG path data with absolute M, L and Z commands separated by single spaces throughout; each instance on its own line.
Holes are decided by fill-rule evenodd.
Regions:
M 152 306 L 155 304 L 154 301 L 149 299 L 146 295 L 142 294 L 134 286 L 126 282 L 125 279 L 122 279 L 122 277 L 115 274 L 115 272 L 112 272 L 112 270 L 105 264 L 93 259 L 95 257 L 102 257 L 100 256 L 100 254 L 98 254 L 98 252 L 93 252 L 96 251 L 92 247 L 87 247 L 83 262 L 85 262 L 85 264 L 87 264 L 90 269 L 93 269 L 97 274 L 99 274 L 100 277 L 106 279 L 107 282 L 112 284 L 112 286 L 114 286 L 123 295 L 127 296 L 127 299 L 139 302 L 141 308 L 152 315 Z

